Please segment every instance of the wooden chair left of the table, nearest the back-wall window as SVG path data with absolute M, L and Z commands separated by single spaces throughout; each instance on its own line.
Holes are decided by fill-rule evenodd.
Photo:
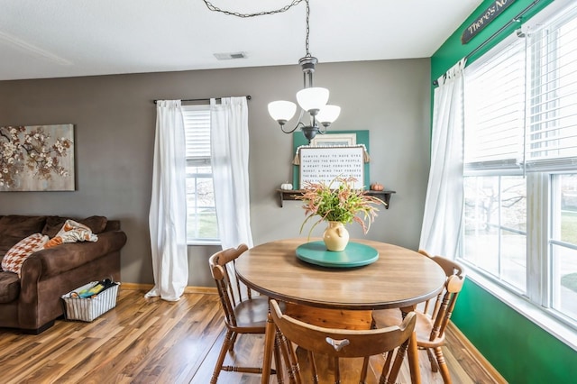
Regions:
M 264 296 L 252 296 L 249 288 L 241 285 L 234 273 L 229 273 L 226 265 L 235 260 L 248 250 L 246 244 L 239 245 L 236 249 L 229 248 L 218 251 L 210 257 L 208 263 L 210 272 L 215 279 L 216 288 L 222 307 L 224 309 L 224 325 L 226 325 L 226 335 L 216 361 L 211 384 L 215 384 L 221 370 L 244 373 L 262 373 L 262 367 L 239 367 L 225 365 L 224 358 L 226 352 L 233 352 L 234 342 L 238 334 L 264 334 L 267 317 L 269 314 L 269 298 Z M 279 346 L 275 343 L 274 356 L 276 367 L 280 367 Z M 282 370 L 271 370 L 282 382 Z

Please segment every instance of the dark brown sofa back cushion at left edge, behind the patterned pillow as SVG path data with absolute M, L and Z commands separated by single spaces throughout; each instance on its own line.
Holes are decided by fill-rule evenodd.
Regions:
M 0 217 L 0 258 L 23 238 L 40 233 L 46 216 L 5 215 Z

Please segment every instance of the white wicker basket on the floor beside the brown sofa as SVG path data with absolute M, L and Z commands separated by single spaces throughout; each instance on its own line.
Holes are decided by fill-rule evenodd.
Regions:
M 113 283 L 110 288 L 98 293 L 93 297 L 78 297 L 78 292 L 92 288 L 98 281 L 92 281 L 82 287 L 76 288 L 66 295 L 62 295 L 64 300 L 64 314 L 67 320 L 80 320 L 91 322 L 99 315 L 116 306 L 116 296 L 120 283 Z

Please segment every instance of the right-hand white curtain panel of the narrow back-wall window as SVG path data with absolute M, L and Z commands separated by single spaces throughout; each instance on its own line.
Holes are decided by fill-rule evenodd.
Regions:
M 223 249 L 252 247 L 249 124 L 246 97 L 210 100 L 210 142 L 216 218 Z

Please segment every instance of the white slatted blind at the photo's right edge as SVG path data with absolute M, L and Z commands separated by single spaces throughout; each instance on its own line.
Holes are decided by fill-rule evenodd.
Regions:
M 577 166 L 577 7 L 530 37 L 527 171 Z

